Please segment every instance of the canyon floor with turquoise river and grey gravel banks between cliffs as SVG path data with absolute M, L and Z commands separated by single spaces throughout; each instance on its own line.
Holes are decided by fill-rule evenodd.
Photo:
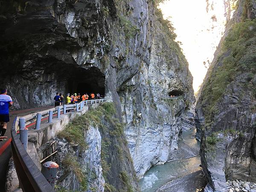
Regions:
M 142 192 L 175 192 L 178 190 L 183 192 L 195 192 L 196 189 L 205 186 L 206 181 L 204 177 L 200 176 L 200 142 L 195 139 L 195 133 L 195 129 L 183 131 L 183 140 L 179 140 L 179 149 L 177 150 L 180 157 L 175 155 L 175 158 L 179 160 L 173 160 L 164 165 L 154 166 L 145 173 L 144 177 L 139 181 Z M 192 177 L 188 179 L 184 177 L 186 175 L 192 175 Z M 180 177 L 184 178 L 177 180 L 177 178 Z M 189 183 L 189 180 L 192 180 L 192 183 Z M 182 183 L 182 187 L 177 188 L 180 182 Z

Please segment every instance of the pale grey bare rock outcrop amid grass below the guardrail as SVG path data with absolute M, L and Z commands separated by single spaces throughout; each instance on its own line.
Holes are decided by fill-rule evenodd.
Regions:
M 87 189 L 97 189 L 99 191 L 104 191 L 105 179 L 102 175 L 102 166 L 101 166 L 101 135 L 98 128 L 90 127 L 87 131 L 85 142 L 88 145 L 86 150 L 80 150 L 79 146 L 72 145 L 67 142 L 67 140 L 56 139 L 58 141 L 57 150 L 58 156 L 55 157 L 55 161 L 58 162 L 60 170 L 58 172 L 58 186 L 61 186 L 65 189 L 76 191 L 81 189 L 79 178 L 76 176 L 76 173 L 70 169 L 69 165 L 61 163 L 63 159 L 69 158 L 72 160 L 72 157 L 66 157 L 67 154 L 74 156 L 79 160 L 79 164 L 83 167 L 84 170 L 87 170 Z

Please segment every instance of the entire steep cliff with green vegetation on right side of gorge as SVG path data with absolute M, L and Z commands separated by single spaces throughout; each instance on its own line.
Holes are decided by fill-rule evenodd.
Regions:
M 196 106 L 206 192 L 226 192 L 226 180 L 256 182 L 256 1 L 233 8 Z

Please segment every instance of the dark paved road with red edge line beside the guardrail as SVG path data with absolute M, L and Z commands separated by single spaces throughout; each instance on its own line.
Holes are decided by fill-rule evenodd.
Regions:
M 53 108 L 53 106 L 33 108 L 33 109 L 24 109 L 18 111 L 12 111 L 10 113 L 10 122 L 7 124 L 7 130 L 5 136 L 8 137 L 6 141 L 0 142 L 0 192 L 5 192 L 5 183 L 6 183 L 6 171 L 8 169 L 9 159 L 12 156 L 11 150 L 11 127 L 12 122 L 14 121 L 15 116 L 26 114 L 32 111 L 39 111 L 42 109 Z M 47 121 L 47 118 L 42 119 L 42 122 Z M 35 122 L 27 125 L 27 128 L 35 128 Z

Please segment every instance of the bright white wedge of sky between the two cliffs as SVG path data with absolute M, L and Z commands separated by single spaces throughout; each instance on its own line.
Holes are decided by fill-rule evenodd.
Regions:
M 209 0 L 209 3 L 208 13 L 206 0 L 168 0 L 159 6 L 164 18 L 171 20 L 176 29 L 176 41 L 183 44 L 181 48 L 194 78 L 195 93 L 207 73 L 204 61 L 212 62 L 226 23 L 223 1 Z M 213 15 L 216 17 L 215 21 Z

